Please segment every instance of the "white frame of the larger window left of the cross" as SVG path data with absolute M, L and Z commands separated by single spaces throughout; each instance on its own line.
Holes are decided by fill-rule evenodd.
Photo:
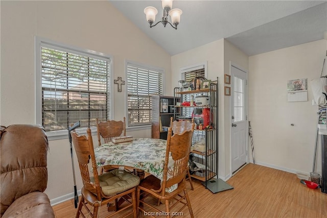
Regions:
M 72 46 L 63 44 L 60 42 L 55 42 L 50 39 L 45 39 L 42 37 L 35 37 L 35 123 L 42 125 L 42 76 L 41 76 L 41 47 L 47 46 L 50 49 L 59 49 L 61 51 L 74 51 L 75 54 L 79 55 L 85 55 L 89 54 L 90 56 L 97 56 L 99 58 L 104 59 L 110 59 L 110 102 L 108 105 L 110 105 L 110 112 L 108 113 L 108 116 L 113 119 L 113 108 L 112 107 L 112 101 L 113 101 L 113 57 L 111 55 L 107 55 L 104 53 L 82 49 L 80 47 Z M 86 133 L 86 127 L 85 128 L 78 128 L 77 132 L 84 134 Z M 96 127 L 90 128 L 92 131 L 92 134 L 97 133 Z M 64 139 L 68 138 L 68 130 L 57 130 L 57 131 L 51 131 L 46 132 L 46 135 L 48 136 L 48 140 L 57 140 L 57 139 Z

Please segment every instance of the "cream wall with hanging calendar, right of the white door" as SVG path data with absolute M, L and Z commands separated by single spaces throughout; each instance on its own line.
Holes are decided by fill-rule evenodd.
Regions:
M 312 106 L 310 80 L 320 77 L 326 47 L 326 40 L 319 40 L 249 57 L 249 120 L 257 163 L 312 171 L 318 106 Z M 308 78 L 309 101 L 288 102 L 287 81 L 301 78 Z M 321 171 L 320 163 L 316 166 Z

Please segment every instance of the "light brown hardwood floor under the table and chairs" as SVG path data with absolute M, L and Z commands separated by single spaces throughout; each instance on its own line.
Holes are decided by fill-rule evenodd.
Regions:
M 247 164 L 227 183 L 234 188 L 218 193 L 193 179 L 188 184 L 195 217 L 327 217 L 327 194 L 301 184 L 295 174 Z M 156 201 L 153 200 L 153 204 Z M 160 205 L 164 211 L 164 205 Z M 74 199 L 53 206 L 57 218 L 75 217 Z M 182 210 L 190 217 L 188 208 Z M 100 217 L 106 217 L 106 207 Z

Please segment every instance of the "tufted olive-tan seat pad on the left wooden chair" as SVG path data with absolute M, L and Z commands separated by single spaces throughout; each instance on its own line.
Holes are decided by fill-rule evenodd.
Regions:
M 91 182 L 94 178 L 91 177 Z M 110 196 L 133 188 L 139 184 L 139 177 L 131 173 L 119 173 L 119 169 L 114 169 L 99 176 L 100 186 L 105 195 Z

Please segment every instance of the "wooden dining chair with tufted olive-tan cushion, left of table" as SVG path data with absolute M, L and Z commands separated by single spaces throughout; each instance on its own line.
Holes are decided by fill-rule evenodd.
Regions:
M 71 135 L 83 180 L 82 196 L 76 218 L 80 215 L 84 218 L 89 215 L 96 218 L 99 215 L 100 206 L 109 205 L 109 203 L 113 202 L 115 203 L 115 211 L 106 217 L 116 215 L 131 207 L 133 208 L 131 212 L 128 214 L 122 213 L 122 215 L 137 217 L 136 186 L 139 184 L 139 178 L 129 172 L 124 171 L 121 173 L 119 169 L 98 175 L 91 130 L 87 129 L 87 137 L 85 135 L 79 136 L 73 131 Z M 90 176 L 88 168 L 90 160 L 93 176 Z M 126 196 L 129 196 L 131 201 Z M 127 206 L 122 205 L 124 207 L 119 208 L 118 200 L 122 199 L 127 202 Z M 82 207 L 86 209 L 89 215 L 82 212 Z M 91 210 L 92 208 L 93 210 Z M 85 212 L 85 210 L 83 211 Z

